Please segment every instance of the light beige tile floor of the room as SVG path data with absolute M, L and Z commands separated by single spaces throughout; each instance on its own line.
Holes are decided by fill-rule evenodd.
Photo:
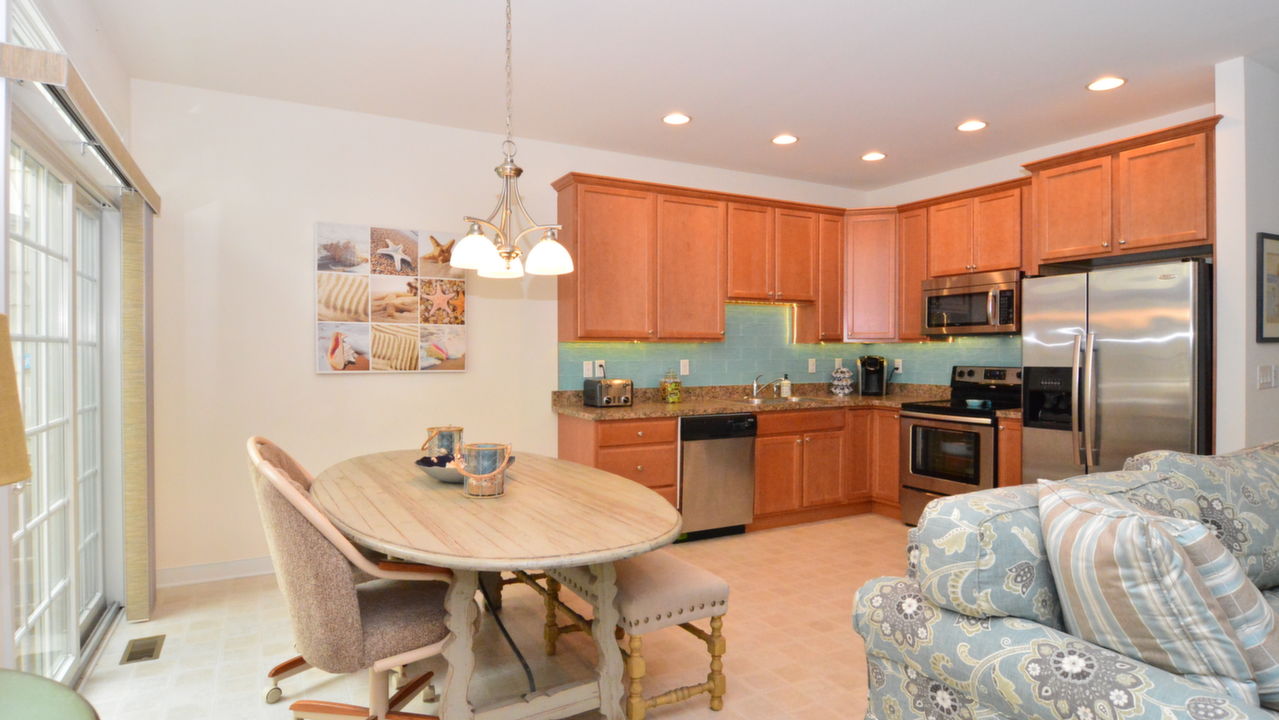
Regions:
M 728 696 L 723 712 L 711 712 L 700 696 L 650 716 L 861 717 L 866 665 L 851 625 L 853 592 L 866 579 L 904 572 L 906 532 L 897 520 L 857 515 L 674 546 L 671 551 L 732 586 L 724 623 Z M 367 701 L 366 674 L 318 670 L 284 680 L 278 705 L 262 701 L 266 670 L 293 655 L 283 596 L 270 575 L 162 590 L 157 606 L 156 619 L 116 627 L 82 688 L 102 720 L 285 720 L 297 698 Z M 530 588 L 508 586 L 503 618 L 540 687 L 590 677 L 595 648 L 582 633 L 564 636 L 558 656 L 542 655 L 541 599 Z M 168 638 L 159 660 L 118 664 L 130 638 L 160 633 Z M 480 643 L 478 666 L 487 670 L 478 674 L 472 702 L 523 692 L 523 673 L 491 619 Z M 705 645 L 688 633 L 668 629 L 647 637 L 646 656 L 652 692 L 705 679 Z M 414 701 L 405 710 L 428 712 L 432 706 Z

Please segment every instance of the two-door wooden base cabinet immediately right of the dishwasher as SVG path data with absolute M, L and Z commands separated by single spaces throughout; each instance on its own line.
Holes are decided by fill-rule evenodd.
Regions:
M 757 517 L 843 500 L 844 411 L 767 412 L 757 419 Z

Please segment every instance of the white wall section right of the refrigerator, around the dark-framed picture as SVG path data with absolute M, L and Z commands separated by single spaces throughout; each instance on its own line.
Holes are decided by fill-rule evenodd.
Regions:
M 1279 233 L 1279 74 L 1246 58 L 1216 65 L 1218 448 L 1279 440 L 1279 390 L 1257 367 L 1279 344 L 1256 341 L 1256 234 Z

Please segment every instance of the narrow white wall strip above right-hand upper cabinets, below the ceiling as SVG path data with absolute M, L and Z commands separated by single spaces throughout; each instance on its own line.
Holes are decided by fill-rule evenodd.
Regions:
M 966 165 L 963 168 L 955 168 L 953 170 L 908 180 L 897 185 L 867 191 L 865 196 L 866 205 L 902 205 L 903 202 L 927 200 L 930 197 L 938 197 L 968 188 L 1012 180 L 1014 178 L 1027 175 L 1027 173 L 1022 170 L 1022 162 L 1044 160 L 1045 157 L 1053 157 L 1054 155 L 1062 155 L 1063 152 L 1071 152 L 1088 146 L 1101 145 L 1104 142 L 1149 133 L 1170 125 L 1207 118 L 1214 114 L 1215 111 L 1211 105 L 1200 105 L 1197 107 L 1188 107 L 1186 110 L 1160 115 L 1157 118 L 1150 118 L 1138 123 L 1110 128 L 1100 133 L 1092 133 L 1088 136 L 1055 142 L 1053 145 L 1023 150 L 1003 157 L 995 157 L 994 160 L 986 160 L 985 162 Z M 993 128 L 985 132 L 998 130 Z

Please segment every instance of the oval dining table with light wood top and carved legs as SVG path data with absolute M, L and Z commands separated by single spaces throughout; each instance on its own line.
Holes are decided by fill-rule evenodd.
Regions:
M 613 564 L 673 542 L 679 513 L 638 482 L 526 451 L 514 453 L 503 495 L 472 497 L 459 485 L 427 476 L 414 464 L 421 454 L 391 450 L 343 460 L 316 477 L 311 495 L 354 542 L 453 572 L 444 601 L 449 637 L 440 719 L 549 720 L 599 708 L 604 717 L 620 720 L 623 657 L 614 638 Z M 481 573 L 567 567 L 586 567 L 595 578 L 595 679 L 473 707 L 475 595 Z

